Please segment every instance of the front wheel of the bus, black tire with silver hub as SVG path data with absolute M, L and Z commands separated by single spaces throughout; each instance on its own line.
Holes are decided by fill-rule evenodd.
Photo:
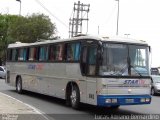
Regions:
M 70 103 L 73 109 L 78 109 L 80 106 L 80 92 L 76 85 L 73 85 L 70 94 Z

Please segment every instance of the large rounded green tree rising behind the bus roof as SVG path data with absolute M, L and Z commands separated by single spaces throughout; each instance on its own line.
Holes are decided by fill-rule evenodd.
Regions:
M 56 33 L 56 26 L 48 16 L 33 14 L 19 17 L 10 26 L 9 34 L 13 39 L 21 42 L 35 42 L 39 39 L 50 39 Z

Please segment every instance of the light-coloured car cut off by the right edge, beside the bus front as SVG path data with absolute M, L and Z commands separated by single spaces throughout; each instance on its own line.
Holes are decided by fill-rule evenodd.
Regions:
M 152 75 L 151 80 L 151 95 L 160 94 L 160 75 Z

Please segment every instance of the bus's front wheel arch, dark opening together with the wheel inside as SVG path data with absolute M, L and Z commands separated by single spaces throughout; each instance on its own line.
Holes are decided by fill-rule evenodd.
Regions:
M 66 86 L 66 104 L 74 109 L 80 105 L 80 90 L 76 82 L 71 81 Z

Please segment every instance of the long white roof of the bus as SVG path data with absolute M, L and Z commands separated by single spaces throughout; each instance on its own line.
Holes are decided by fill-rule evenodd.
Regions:
M 58 42 L 67 42 L 67 41 L 76 41 L 76 40 L 97 40 L 101 42 L 117 42 L 117 43 L 128 43 L 128 44 L 139 44 L 139 45 L 148 45 L 143 40 L 136 40 L 136 39 L 130 39 L 130 38 L 123 38 L 123 37 L 99 37 L 99 36 L 77 36 L 69 39 L 58 39 L 58 40 L 44 40 L 40 42 L 34 42 L 34 43 L 21 43 L 21 42 L 15 42 L 8 45 L 8 48 L 14 48 L 14 47 L 27 47 L 32 45 L 41 45 L 41 44 L 49 44 L 49 43 L 58 43 Z

